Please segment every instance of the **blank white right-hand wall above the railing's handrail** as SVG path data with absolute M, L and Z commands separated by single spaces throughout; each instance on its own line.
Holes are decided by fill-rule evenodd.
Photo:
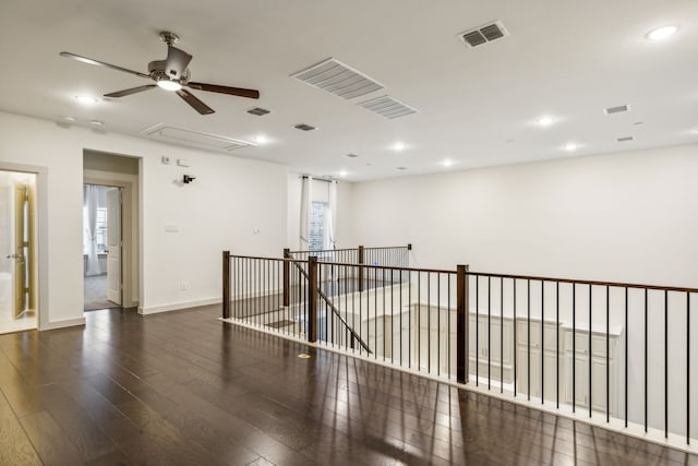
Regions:
M 698 146 L 354 183 L 363 244 L 417 266 L 698 287 Z

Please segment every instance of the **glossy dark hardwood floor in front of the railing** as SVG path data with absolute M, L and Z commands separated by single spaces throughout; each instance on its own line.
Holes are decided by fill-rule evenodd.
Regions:
M 698 465 L 218 314 L 105 310 L 1 335 L 0 464 Z

